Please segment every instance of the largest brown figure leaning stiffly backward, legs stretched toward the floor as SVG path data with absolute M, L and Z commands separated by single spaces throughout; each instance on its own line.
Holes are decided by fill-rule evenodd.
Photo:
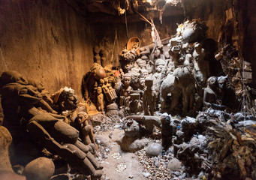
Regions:
M 79 132 L 60 120 L 59 115 L 44 113 L 35 108 L 34 104 L 42 100 L 40 92 L 34 86 L 27 85 L 27 81 L 21 80 L 22 76 L 19 75 L 8 71 L 1 76 L 2 102 L 12 102 L 5 104 L 7 106 L 4 110 L 15 104 L 23 117 L 22 121 L 17 121 L 20 121 L 36 142 L 39 140 L 43 147 L 67 160 L 83 174 L 101 177 L 102 166 L 95 160 L 89 148 L 78 140 Z M 14 107 L 11 110 L 14 110 Z

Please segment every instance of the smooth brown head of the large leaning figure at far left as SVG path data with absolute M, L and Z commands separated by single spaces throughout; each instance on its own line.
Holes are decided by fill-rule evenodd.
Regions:
M 0 82 L 2 86 L 5 86 L 8 83 L 20 83 L 22 85 L 29 84 L 28 80 L 17 71 L 5 71 L 0 77 Z

